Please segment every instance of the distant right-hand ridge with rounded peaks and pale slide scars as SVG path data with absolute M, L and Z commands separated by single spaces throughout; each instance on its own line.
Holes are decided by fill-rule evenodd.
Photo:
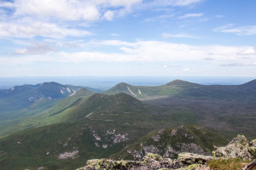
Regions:
M 255 95 L 252 94 L 255 90 L 255 80 L 236 86 L 201 85 L 193 82 L 174 80 L 165 85 L 153 87 L 133 86 L 121 82 L 104 92 L 104 94 L 125 93 L 143 100 L 166 98 L 170 96 L 189 99 L 251 100 L 255 99 Z

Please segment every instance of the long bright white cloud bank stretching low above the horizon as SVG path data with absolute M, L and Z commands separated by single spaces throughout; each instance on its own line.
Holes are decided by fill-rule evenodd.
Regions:
M 76 53 L 68 52 L 52 52 L 45 54 L 46 59 L 55 62 L 69 62 L 81 63 L 87 61 L 102 61 L 102 62 L 127 62 L 127 61 L 142 61 L 142 62 L 209 62 L 211 64 L 229 64 L 229 63 L 243 63 L 244 59 L 241 58 L 241 52 L 255 50 L 250 46 L 192 46 L 187 44 L 170 43 L 170 42 L 157 42 L 157 41 L 138 41 L 138 42 L 121 42 L 118 40 L 109 41 L 94 41 L 87 42 L 86 47 L 97 48 L 104 46 L 112 46 L 117 48 L 116 53 L 97 52 L 93 51 L 80 51 Z M 27 51 L 20 51 L 20 53 L 28 53 Z M 33 57 L 34 55 L 31 55 Z M 251 56 L 251 55 L 250 55 Z M 36 59 L 41 59 L 40 56 L 35 59 L 28 59 L 27 61 L 34 62 Z M 5 58 L 4 58 L 5 59 Z M 1 58 L 1 64 L 11 63 L 15 56 L 10 60 Z M 17 61 L 24 62 L 21 57 L 16 57 Z M 247 59 L 248 63 L 255 62 L 255 56 L 252 55 L 251 59 Z

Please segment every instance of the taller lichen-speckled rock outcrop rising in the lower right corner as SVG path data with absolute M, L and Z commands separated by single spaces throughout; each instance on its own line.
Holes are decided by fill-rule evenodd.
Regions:
M 249 142 L 243 135 L 237 135 L 230 143 L 224 147 L 218 147 L 212 152 L 213 156 L 223 158 L 236 158 L 249 160 L 256 158 L 256 139 Z

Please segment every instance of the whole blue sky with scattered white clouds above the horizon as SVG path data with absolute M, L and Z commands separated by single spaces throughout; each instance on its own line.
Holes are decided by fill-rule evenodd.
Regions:
M 0 77 L 255 77 L 255 7 L 255 0 L 0 0 Z

